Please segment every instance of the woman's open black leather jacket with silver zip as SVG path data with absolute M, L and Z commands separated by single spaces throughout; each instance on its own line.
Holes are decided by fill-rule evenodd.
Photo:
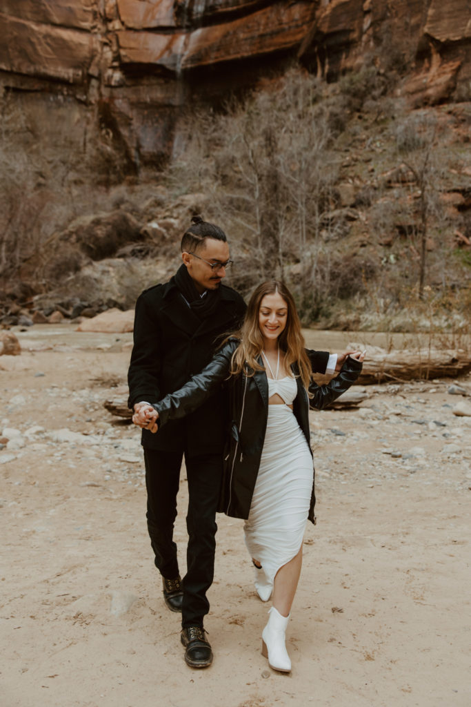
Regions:
M 220 390 L 221 386 L 227 387 L 231 422 L 225 443 L 222 491 L 218 510 L 234 518 L 248 518 L 265 440 L 268 419 L 268 380 L 265 370 L 256 371 L 254 375 L 229 375 L 232 354 L 237 349 L 237 344 L 236 339 L 228 341 L 220 351 L 217 351 L 201 373 L 193 375 L 180 390 L 166 395 L 153 404 L 153 407 L 159 414 L 159 424 L 165 425 L 168 420 L 178 419 L 195 411 L 205 400 L 214 395 L 216 390 Z M 307 350 L 307 354 L 315 370 L 317 352 Z M 309 398 L 301 378 L 297 375 L 297 369 L 293 367 L 293 373 L 297 375 L 298 388 L 293 403 L 293 413 L 306 437 L 309 449 L 311 449 L 309 407 L 319 410 L 327 407 L 357 380 L 361 370 L 362 363 L 347 358 L 340 373 L 327 385 L 319 386 L 311 382 L 309 393 L 313 397 Z M 312 522 L 315 522 L 315 501 L 313 469 L 313 489 L 309 510 L 309 520 Z

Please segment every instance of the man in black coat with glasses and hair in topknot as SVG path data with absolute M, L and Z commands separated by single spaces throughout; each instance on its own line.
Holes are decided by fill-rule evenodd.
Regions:
M 222 479 L 225 406 L 215 395 L 185 419 L 157 434 L 155 409 L 210 361 L 220 337 L 239 328 L 246 306 L 222 284 L 232 264 L 221 228 L 194 216 L 181 240 L 183 264 L 166 284 L 145 290 L 136 303 L 134 346 L 129 366 L 129 407 L 143 428 L 147 520 L 155 565 L 162 575 L 167 607 L 181 611 L 181 643 L 191 667 L 208 667 L 213 653 L 203 628 L 213 581 L 215 514 Z M 335 368 L 335 356 L 318 354 L 319 373 Z M 340 369 L 344 356 L 339 356 Z M 330 366 L 329 366 L 330 364 Z M 331 370 L 333 373 L 333 370 Z M 222 395 L 222 394 L 221 394 Z M 173 542 L 182 458 L 189 489 L 187 571 L 179 575 Z

